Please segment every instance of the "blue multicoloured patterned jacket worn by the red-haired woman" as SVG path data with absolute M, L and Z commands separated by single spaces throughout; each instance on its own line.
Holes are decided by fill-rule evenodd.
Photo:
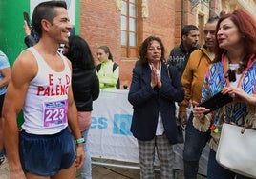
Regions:
M 243 71 L 238 82 L 238 87 L 248 94 L 256 93 L 256 63 L 255 56 L 251 56 L 246 69 Z M 206 71 L 203 83 L 203 98 L 207 99 L 213 94 L 221 91 L 224 87 L 229 86 L 229 81 L 224 77 L 228 70 L 228 61 L 225 55 L 222 61 L 214 63 Z M 221 129 L 224 122 L 234 122 L 239 126 L 245 124 L 245 117 L 248 114 L 247 105 L 244 102 L 230 103 L 223 108 L 214 112 L 212 123 L 217 128 L 217 132 Z

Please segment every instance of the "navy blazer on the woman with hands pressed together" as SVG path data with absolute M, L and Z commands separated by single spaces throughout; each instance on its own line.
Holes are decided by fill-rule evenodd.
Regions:
M 137 63 L 133 70 L 128 100 L 134 108 L 131 132 L 139 140 L 152 140 L 156 136 L 160 112 L 165 134 L 171 144 L 177 143 L 175 101 L 183 100 L 184 89 L 178 70 L 173 66 L 169 69 L 176 75 L 172 79 L 167 66 L 161 63 L 160 89 L 150 86 L 151 69 L 148 64 Z

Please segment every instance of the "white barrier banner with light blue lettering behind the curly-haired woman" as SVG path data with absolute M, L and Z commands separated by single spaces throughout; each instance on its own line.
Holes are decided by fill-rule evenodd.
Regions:
M 139 163 L 137 139 L 130 131 L 133 107 L 128 101 L 128 90 L 101 90 L 93 109 L 88 135 L 91 156 Z M 203 175 L 208 151 L 207 146 L 200 160 L 199 173 Z M 174 145 L 174 153 L 174 169 L 183 169 L 183 144 Z

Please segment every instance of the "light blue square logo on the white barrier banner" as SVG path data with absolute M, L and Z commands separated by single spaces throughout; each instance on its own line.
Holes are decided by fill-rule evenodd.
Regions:
M 128 114 L 115 114 L 113 133 L 120 135 L 132 135 L 130 131 L 132 116 Z

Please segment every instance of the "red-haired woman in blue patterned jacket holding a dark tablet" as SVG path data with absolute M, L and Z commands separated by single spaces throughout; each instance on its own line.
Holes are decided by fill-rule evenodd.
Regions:
M 202 97 L 208 99 L 222 91 L 233 96 L 233 102 L 204 115 L 209 109 L 194 101 L 193 125 L 201 131 L 211 129 L 207 178 L 242 179 L 246 177 L 217 163 L 216 150 L 224 123 L 256 127 L 251 117 L 256 113 L 256 21 L 245 10 L 234 10 L 220 18 L 216 30 L 215 59 L 206 70 Z

